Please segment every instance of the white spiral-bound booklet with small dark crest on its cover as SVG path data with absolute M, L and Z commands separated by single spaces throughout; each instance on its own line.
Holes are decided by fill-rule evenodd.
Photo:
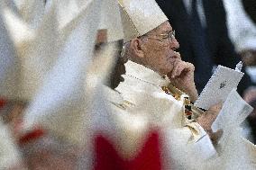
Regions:
M 238 63 L 235 69 L 219 65 L 194 105 L 207 110 L 216 103 L 224 103 L 244 75 L 241 68 L 242 62 Z

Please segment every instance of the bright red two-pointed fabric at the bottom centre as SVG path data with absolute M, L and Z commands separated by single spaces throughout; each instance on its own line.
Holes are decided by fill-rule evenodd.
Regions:
M 160 170 L 160 138 L 152 132 L 140 153 L 132 160 L 124 160 L 103 136 L 95 139 L 95 170 Z

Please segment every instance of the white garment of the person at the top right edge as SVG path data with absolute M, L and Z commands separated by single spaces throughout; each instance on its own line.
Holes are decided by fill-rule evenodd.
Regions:
M 227 27 L 235 49 L 256 49 L 256 25 L 244 11 L 242 1 L 224 0 Z

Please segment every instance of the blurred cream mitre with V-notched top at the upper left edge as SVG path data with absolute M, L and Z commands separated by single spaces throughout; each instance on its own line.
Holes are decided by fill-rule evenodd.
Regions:
M 32 100 L 52 67 L 58 51 L 55 5 L 50 6 L 37 30 L 29 29 L 8 6 L 4 6 L 2 10 L 5 19 L 3 24 L 15 46 L 14 54 L 5 55 L 5 62 L 2 63 L 7 65 L 6 61 L 10 60 L 8 69 L 12 71 L 7 72 L 7 69 L 3 74 L 9 82 L 13 82 L 8 82 L 6 86 L 2 85 L 5 81 L 1 81 L 3 93 L 1 89 L 0 95 L 13 100 Z

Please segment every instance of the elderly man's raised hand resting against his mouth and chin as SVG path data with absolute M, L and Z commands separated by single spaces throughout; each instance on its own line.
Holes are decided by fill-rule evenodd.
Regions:
M 191 102 L 195 102 L 198 97 L 194 82 L 194 71 L 193 64 L 176 59 L 172 71 L 168 74 L 170 83 L 188 94 Z

